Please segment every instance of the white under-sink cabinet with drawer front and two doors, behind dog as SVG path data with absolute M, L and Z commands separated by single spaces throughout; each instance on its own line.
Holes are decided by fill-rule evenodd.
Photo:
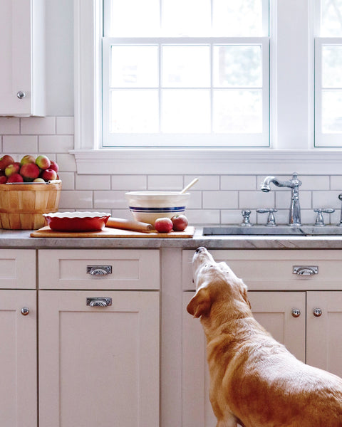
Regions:
M 275 339 L 303 362 L 342 376 L 341 251 L 210 252 L 244 279 L 254 317 Z M 186 311 L 195 294 L 192 255 L 183 251 L 182 427 L 212 427 L 204 332 Z M 318 274 L 295 275 L 294 265 L 318 267 Z

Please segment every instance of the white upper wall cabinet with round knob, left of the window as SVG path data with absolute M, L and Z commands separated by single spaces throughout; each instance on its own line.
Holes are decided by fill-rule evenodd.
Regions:
M 45 115 L 45 2 L 0 2 L 0 115 Z

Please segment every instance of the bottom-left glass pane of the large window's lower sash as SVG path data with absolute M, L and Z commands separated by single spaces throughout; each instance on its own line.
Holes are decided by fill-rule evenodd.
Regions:
M 110 91 L 110 132 L 153 133 L 158 123 L 157 90 Z

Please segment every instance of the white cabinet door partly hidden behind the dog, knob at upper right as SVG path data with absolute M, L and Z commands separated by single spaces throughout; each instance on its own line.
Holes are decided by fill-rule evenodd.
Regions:
M 187 314 L 194 292 L 183 292 L 182 389 L 183 426 L 212 427 L 216 418 L 209 402 L 205 339 L 198 319 Z M 249 292 L 254 317 L 290 352 L 305 361 L 305 292 Z M 299 317 L 292 310 L 301 312 Z

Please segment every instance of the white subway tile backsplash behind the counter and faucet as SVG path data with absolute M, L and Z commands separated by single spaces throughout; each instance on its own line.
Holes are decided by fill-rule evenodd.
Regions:
M 69 150 L 73 149 L 73 117 L 0 117 L 0 148 L 2 154 L 11 154 L 20 160 L 24 154 L 46 154 L 58 162 L 63 181 L 61 211 L 101 210 L 113 216 L 130 218 L 125 191 L 171 190 L 180 191 L 195 178 L 193 174 L 121 174 L 78 175 L 76 163 Z M 268 174 L 265 171 L 264 176 Z M 266 214 L 257 214 L 259 208 L 276 208 L 276 221 L 289 220 L 290 191 L 272 187 L 269 193 L 260 191 L 264 176 L 204 175 L 190 190 L 187 208 L 190 223 L 240 223 L 242 209 L 251 209 L 252 223 L 265 223 Z M 314 223 L 315 208 L 333 208 L 324 214 L 326 223 L 339 223 L 341 218 L 341 175 L 303 175 L 300 188 L 301 218 L 303 223 Z M 281 177 L 287 179 L 289 176 Z

